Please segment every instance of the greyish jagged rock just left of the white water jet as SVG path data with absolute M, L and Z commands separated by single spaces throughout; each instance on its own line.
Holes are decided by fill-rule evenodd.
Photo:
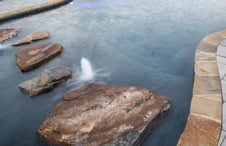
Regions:
M 34 96 L 52 90 L 71 77 L 71 74 L 71 69 L 67 66 L 52 67 L 44 70 L 38 77 L 21 83 L 19 87 L 29 96 Z

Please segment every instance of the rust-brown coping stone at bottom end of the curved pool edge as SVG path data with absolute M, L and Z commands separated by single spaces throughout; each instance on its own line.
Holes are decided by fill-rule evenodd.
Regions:
M 219 122 L 190 114 L 177 146 L 216 146 L 220 129 Z

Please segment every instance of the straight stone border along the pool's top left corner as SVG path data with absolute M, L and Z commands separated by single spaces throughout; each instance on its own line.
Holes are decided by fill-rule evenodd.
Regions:
M 50 9 L 59 7 L 61 5 L 65 5 L 71 1 L 72 0 L 51 0 L 51 1 L 43 3 L 43 4 L 30 6 L 30 7 L 22 8 L 19 10 L 0 14 L 0 23 L 4 22 L 4 21 L 15 19 L 15 18 L 20 18 L 20 17 L 24 17 L 27 15 L 36 14 L 36 13 L 40 13 L 40 12 L 43 12 L 46 10 L 50 10 Z

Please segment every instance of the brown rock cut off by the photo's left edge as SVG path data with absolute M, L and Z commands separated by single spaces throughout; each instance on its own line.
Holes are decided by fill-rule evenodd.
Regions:
M 17 35 L 19 29 L 0 29 L 0 43 Z

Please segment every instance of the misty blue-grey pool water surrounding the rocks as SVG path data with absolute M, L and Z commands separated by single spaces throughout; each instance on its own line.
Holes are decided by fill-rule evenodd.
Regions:
M 44 146 L 36 130 L 62 95 L 88 82 L 142 86 L 171 97 L 172 109 L 144 146 L 175 146 L 184 129 L 193 86 L 194 52 L 207 34 L 226 28 L 223 0 L 78 0 L 59 9 L 0 24 L 22 32 L 0 45 L 0 145 Z M 48 31 L 65 50 L 44 66 L 22 73 L 15 63 L 21 47 L 11 47 L 32 31 Z M 81 78 L 87 58 L 95 76 Z M 66 64 L 71 80 L 30 98 L 18 84 L 45 68 Z

